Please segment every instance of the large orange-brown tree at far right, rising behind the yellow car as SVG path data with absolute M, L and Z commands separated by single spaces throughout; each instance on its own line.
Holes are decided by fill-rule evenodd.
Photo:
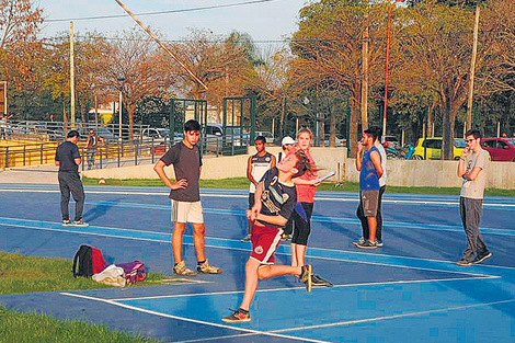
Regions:
M 443 122 L 443 158 L 450 159 L 455 122 L 468 94 L 473 13 L 457 7 L 423 3 L 411 9 L 409 15 L 405 35 L 399 41 L 402 64 L 394 70 L 400 80 L 397 88 L 437 96 Z M 504 73 L 495 52 L 497 39 L 496 31 L 481 31 L 476 95 L 499 91 L 492 87 Z

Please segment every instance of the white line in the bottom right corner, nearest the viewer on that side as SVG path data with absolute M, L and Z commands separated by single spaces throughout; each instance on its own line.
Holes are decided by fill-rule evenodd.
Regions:
M 323 328 L 332 328 L 332 327 L 348 327 L 348 325 L 362 324 L 362 323 L 368 323 L 368 322 L 375 322 L 375 321 L 381 321 L 381 320 L 398 319 L 398 318 L 405 318 L 405 317 L 416 317 L 416 316 L 438 313 L 438 312 L 448 312 L 448 311 L 454 311 L 454 310 L 464 310 L 464 309 L 469 309 L 469 308 L 478 308 L 478 307 L 494 306 L 494 305 L 501 305 L 501 304 L 510 304 L 510 302 L 514 302 L 514 301 L 515 301 L 515 299 L 507 299 L 507 300 L 493 301 L 493 302 L 481 302 L 481 304 L 474 304 L 474 305 L 448 307 L 448 308 L 443 308 L 443 309 L 437 309 L 437 310 L 427 310 L 427 311 L 410 312 L 410 313 L 403 313 L 403 315 L 384 316 L 384 317 L 367 318 L 367 319 L 356 319 L 356 320 L 341 321 L 341 322 L 336 322 L 336 323 L 328 323 L 328 324 L 319 324 L 319 325 L 310 325 L 310 327 L 304 327 L 304 328 L 281 329 L 281 330 L 273 330 L 273 331 L 270 331 L 270 332 L 278 333 L 278 332 L 291 332 L 291 331 L 308 330 L 308 329 L 323 329 Z

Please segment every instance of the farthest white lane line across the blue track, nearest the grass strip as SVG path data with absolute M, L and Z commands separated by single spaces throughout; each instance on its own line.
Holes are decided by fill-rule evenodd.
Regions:
M 33 190 L 33 188 L 0 188 L 1 192 L 11 192 L 11 193 L 60 193 L 59 190 Z M 87 190 L 88 194 L 117 194 L 117 195 L 148 195 L 148 196 L 163 196 L 168 195 L 169 193 L 164 192 L 140 192 L 140 191 L 94 191 L 94 190 Z M 216 193 L 201 193 L 202 197 L 220 197 L 220 198 L 248 198 L 248 194 L 216 194 Z M 328 196 L 316 196 L 316 201 L 323 201 L 323 202 L 351 202 L 357 203 L 357 197 L 328 197 Z M 458 206 L 459 202 L 457 201 L 414 201 L 414 199 L 389 199 L 384 198 L 384 203 L 391 203 L 391 204 L 416 204 L 416 205 L 447 205 L 447 206 Z M 504 204 L 504 203 L 483 203 L 484 206 L 490 207 L 501 207 L 501 208 L 515 208 L 515 204 Z

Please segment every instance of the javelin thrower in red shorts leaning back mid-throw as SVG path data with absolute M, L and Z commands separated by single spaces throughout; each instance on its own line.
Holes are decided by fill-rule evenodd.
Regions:
M 225 322 L 249 322 L 250 306 L 260 279 L 279 275 L 296 275 L 306 284 L 308 291 L 312 286 L 311 265 L 274 265 L 274 253 L 283 236 L 283 227 L 294 211 L 297 201 L 293 178 L 314 170 L 308 157 L 301 151 L 287 155 L 276 168 L 268 170 L 255 190 L 255 204 L 247 211 L 253 221 L 252 253 L 245 264 L 245 293 L 240 308 L 224 317 Z

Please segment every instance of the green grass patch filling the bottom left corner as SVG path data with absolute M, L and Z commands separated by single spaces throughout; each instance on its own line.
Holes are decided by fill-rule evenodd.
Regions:
M 2 342 L 159 342 L 130 336 L 104 325 L 81 321 L 60 321 L 37 313 L 20 313 L 0 307 L 0 341 Z

